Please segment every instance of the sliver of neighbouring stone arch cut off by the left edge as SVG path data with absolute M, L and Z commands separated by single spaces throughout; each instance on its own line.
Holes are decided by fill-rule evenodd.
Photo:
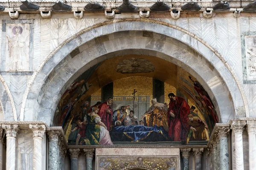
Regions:
M 12 108 L 12 109 L 10 109 Z M 3 114 L 4 120 L 17 121 L 17 113 L 12 98 L 12 94 L 0 75 L 0 113 Z

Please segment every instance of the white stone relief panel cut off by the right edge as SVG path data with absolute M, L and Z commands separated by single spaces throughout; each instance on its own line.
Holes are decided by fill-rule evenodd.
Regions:
M 256 36 L 245 36 L 247 80 L 256 79 Z

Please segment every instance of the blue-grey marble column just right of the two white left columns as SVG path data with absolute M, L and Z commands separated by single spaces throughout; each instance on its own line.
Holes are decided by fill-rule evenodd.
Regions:
M 59 170 L 60 151 L 58 147 L 58 136 L 60 135 L 60 132 L 58 130 L 51 130 L 47 132 L 47 135 L 49 136 L 49 170 Z

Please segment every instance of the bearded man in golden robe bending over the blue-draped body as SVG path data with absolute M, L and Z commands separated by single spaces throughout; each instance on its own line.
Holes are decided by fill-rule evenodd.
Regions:
M 148 127 L 152 127 L 154 125 L 157 125 L 158 127 L 163 126 L 163 128 L 168 132 L 168 108 L 163 103 L 158 103 L 157 99 L 152 99 L 151 103 L 152 106 L 143 115 L 144 125 Z

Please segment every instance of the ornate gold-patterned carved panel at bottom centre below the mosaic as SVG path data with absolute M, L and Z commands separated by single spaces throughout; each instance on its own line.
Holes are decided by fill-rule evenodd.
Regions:
M 145 168 L 148 170 L 179 170 L 176 156 L 166 157 L 98 157 L 96 170 L 128 170 Z

